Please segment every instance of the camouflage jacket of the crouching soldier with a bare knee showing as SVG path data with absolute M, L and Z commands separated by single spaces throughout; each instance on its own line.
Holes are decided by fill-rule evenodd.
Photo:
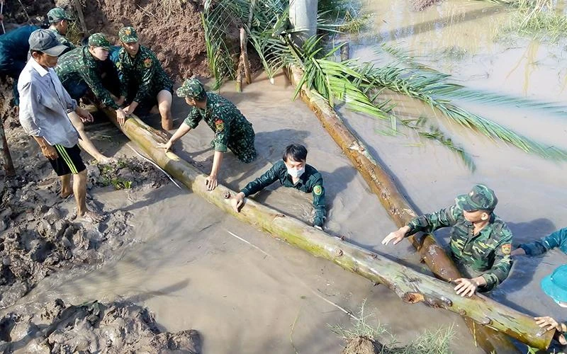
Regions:
M 135 95 L 132 96 L 137 103 L 157 95 L 161 90 L 172 91 L 172 79 L 164 72 L 154 52 L 143 45 L 140 45 L 135 57 L 130 57 L 124 48 L 120 48 L 116 67 L 120 76 L 121 95 L 128 98 L 129 93 L 133 93 L 128 90 L 135 87 Z

